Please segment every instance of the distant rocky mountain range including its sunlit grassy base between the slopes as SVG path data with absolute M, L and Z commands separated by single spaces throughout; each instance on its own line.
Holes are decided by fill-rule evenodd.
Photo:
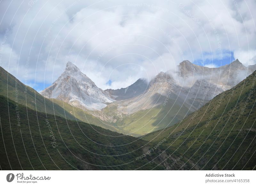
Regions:
M 69 62 L 60 78 L 41 94 L 82 108 L 124 134 L 141 136 L 200 109 L 251 74 L 256 65 L 245 67 L 235 60 L 208 68 L 185 60 L 177 69 L 160 72 L 149 82 L 139 79 L 126 88 L 103 91 Z

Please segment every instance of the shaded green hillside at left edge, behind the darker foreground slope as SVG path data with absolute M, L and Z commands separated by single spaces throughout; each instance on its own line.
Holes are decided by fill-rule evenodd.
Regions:
M 17 88 L 16 92 L 15 86 Z M 26 89 L 27 93 L 24 93 Z M 59 105 L 54 104 L 49 99 L 41 96 L 38 92 L 36 92 L 36 90 L 30 88 L 29 86 L 26 87 L 26 85 L 21 83 L 2 67 L 0 67 L 0 95 L 8 97 L 13 101 L 16 101 L 17 96 L 18 104 L 27 105 L 29 108 L 38 112 L 55 114 L 70 120 L 76 119 L 72 114 L 65 112 L 65 110 Z

